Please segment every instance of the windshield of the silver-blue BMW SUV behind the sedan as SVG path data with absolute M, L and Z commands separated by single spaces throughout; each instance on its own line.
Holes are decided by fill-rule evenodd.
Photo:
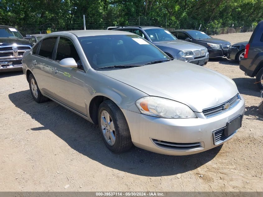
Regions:
M 177 40 L 168 30 L 165 29 L 148 29 L 144 30 L 153 42 Z

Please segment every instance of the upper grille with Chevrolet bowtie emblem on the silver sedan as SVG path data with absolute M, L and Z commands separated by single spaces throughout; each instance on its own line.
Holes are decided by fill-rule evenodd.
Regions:
M 234 106 L 237 105 L 239 101 L 240 101 L 240 96 L 239 94 L 237 94 L 236 96 L 232 97 L 228 101 L 220 105 L 204 109 L 202 112 L 206 118 L 211 118 L 213 116 L 219 115 L 221 113 L 224 113 L 225 111 L 232 109 Z M 226 108 L 226 106 L 228 106 L 228 108 Z

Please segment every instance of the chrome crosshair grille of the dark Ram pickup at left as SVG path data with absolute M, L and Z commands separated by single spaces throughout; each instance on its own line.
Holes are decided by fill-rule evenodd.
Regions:
M 21 58 L 26 50 L 31 49 L 31 46 L 18 45 L 15 51 L 13 47 L 15 46 L 0 46 L 0 59 Z

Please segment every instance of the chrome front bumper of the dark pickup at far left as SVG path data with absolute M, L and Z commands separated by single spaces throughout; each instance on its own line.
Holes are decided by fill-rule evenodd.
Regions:
M 1 59 L 0 60 L 0 72 L 8 71 L 21 71 L 22 70 L 22 58 L 19 59 Z

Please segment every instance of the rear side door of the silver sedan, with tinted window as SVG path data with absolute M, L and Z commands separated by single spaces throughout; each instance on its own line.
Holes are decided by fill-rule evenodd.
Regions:
M 52 56 L 57 38 L 57 36 L 45 38 L 32 50 L 32 71 L 38 87 L 51 97 L 53 97 L 51 71 L 55 63 Z

